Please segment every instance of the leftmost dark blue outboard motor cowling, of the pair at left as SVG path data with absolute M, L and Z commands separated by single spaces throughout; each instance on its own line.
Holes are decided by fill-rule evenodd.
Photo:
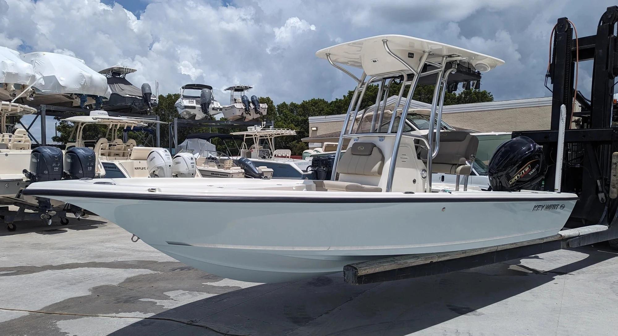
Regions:
M 33 182 L 57 181 L 62 179 L 62 151 L 60 148 L 41 146 L 30 153 L 30 171 L 23 174 Z

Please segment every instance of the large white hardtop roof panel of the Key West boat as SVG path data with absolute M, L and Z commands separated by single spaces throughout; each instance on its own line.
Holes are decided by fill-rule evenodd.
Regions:
M 384 48 L 384 40 L 387 40 L 389 49 L 406 61 L 413 69 L 418 67 L 419 60 L 426 50 L 431 51 L 427 61 L 441 63 L 442 56 L 457 55 L 458 58 L 449 58 L 449 61 L 459 59 L 472 65 L 480 72 L 487 72 L 504 64 L 501 59 L 479 52 L 404 35 L 380 35 L 363 38 L 324 48 L 315 54 L 322 59 L 328 59 L 326 54 L 330 54 L 332 62 L 363 69 L 369 76 L 402 70 L 409 72 L 401 62 L 388 54 Z

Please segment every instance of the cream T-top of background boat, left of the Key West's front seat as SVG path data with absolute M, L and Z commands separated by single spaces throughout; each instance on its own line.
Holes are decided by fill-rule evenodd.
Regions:
M 243 143 L 240 156 L 252 159 L 289 159 L 292 155 L 290 149 L 275 149 L 274 138 L 284 135 L 296 135 L 295 130 L 289 128 L 266 128 L 265 123 L 261 126 L 247 127 L 246 131 L 232 132 L 233 135 L 242 135 Z M 252 143 L 249 147 L 248 143 Z

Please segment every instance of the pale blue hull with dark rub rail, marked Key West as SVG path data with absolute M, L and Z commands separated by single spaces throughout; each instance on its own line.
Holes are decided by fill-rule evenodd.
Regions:
M 329 274 L 397 254 L 548 237 L 562 229 L 577 200 L 567 193 L 273 191 L 253 187 L 311 182 L 187 180 L 41 182 L 27 193 L 95 212 L 190 266 L 252 282 Z

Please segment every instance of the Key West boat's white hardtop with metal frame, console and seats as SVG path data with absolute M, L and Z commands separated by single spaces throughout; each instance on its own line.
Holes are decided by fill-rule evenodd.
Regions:
M 332 167 L 334 172 L 340 174 L 332 174 L 332 181 L 328 183 L 331 188 L 347 190 L 347 184 L 352 183 L 360 187 L 368 185 L 368 188 L 393 191 L 396 166 L 397 170 L 414 172 L 414 176 L 397 179 L 397 190 L 404 188 L 431 192 L 431 178 L 427 179 L 431 172 L 444 171 L 456 173 L 458 179 L 459 175 L 467 178 L 470 174 L 469 162 L 473 160 L 478 140 L 467 132 L 440 132 L 444 94 L 456 88 L 458 83 L 478 82 L 481 72 L 504 64 L 504 61 L 449 44 L 403 35 L 381 35 L 337 44 L 321 49 L 316 52 L 316 56 L 326 59 L 358 83 L 339 136 Z M 358 78 L 342 65 L 362 69 L 362 75 Z M 402 85 L 391 110 L 395 113 L 389 114 L 385 112 L 386 100 L 389 88 L 395 81 L 400 81 Z M 412 96 L 419 83 L 435 85 L 430 111 L 410 109 Z M 365 111 L 365 117 L 358 118 L 366 88 L 371 84 L 379 85 L 375 107 L 370 113 Z M 407 96 L 402 104 L 406 88 Z M 404 136 L 407 122 L 399 120 L 407 120 L 408 113 L 429 114 L 425 135 L 422 134 L 425 132 L 405 132 Z M 342 146 L 344 139 L 350 139 L 349 148 L 352 151 L 346 151 L 340 162 L 341 151 L 345 149 Z M 417 146 L 425 148 L 421 151 L 423 153 L 413 150 Z M 438 155 L 439 149 L 441 155 Z M 405 159 L 406 156 L 417 157 L 417 154 L 422 162 Z M 360 159 L 371 161 L 369 163 L 375 164 L 375 170 L 379 168 L 381 172 L 359 172 L 357 168 L 350 168 Z

